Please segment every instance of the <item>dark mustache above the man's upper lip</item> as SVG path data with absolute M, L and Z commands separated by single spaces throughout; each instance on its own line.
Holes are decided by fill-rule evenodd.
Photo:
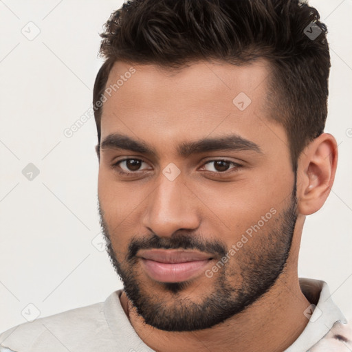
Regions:
M 173 234 L 170 237 L 159 237 L 157 234 L 133 237 L 127 251 L 127 261 L 132 261 L 139 250 L 164 249 L 164 250 L 199 250 L 214 254 L 214 257 L 223 257 L 226 246 L 221 241 L 204 241 L 199 236 L 187 234 Z

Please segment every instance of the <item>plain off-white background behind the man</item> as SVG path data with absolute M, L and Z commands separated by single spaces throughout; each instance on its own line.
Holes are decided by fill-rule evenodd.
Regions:
M 307 217 L 299 275 L 327 281 L 351 319 L 352 0 L 310 3 L 329 28 L 326 131 L 340 156 L 329 199 Z M 63 133 L 91 106 L 102 63 L 98 33 L 121 5 L 0 1 L 0 331 L 100 302 L 122 287 L 99 247 L 94 118 L 72 137 Z M 32 181 L 22 174 L 29 163 L 40 170 Z

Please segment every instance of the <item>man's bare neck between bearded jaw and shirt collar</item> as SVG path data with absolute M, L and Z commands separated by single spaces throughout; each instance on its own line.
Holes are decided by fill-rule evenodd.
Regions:
M 310 305 L 296 280 L 281 276 L 270 292 L 222 324 L 199 331 L 162 331 L 146 325 L 122 292 L 122 307 L 138 336 L 157 352 L 281 352 L 305 329 L 303 311 Z

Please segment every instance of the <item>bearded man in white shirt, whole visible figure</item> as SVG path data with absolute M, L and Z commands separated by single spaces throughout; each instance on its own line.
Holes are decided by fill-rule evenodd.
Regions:
M 297 273 L 338 159 L 326 32 L 297 0 L 138 0 L 111 14 L 98 196 L 124 289 L 13 327 L 0 351 L 351 350 L 327 283 Z

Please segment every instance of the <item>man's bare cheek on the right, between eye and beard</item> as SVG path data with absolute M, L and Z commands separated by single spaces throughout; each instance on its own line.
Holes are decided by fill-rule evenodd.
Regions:
M 246 252 L 260 246 L 276 228 L 279 214 L 287 207 L 287 195 L 290 197 L 292 193 L 289 177 L 287 180 L 272 182 L 270 177 L 261 174 L 238 183 L 199 189 L 201 200 L 206 204 L 203 209 L 207 211 L 202 214 L 203 232 L 214 234 L 227 248 L 235 245 L 235 250 L 241 252 L 241 248 Z

